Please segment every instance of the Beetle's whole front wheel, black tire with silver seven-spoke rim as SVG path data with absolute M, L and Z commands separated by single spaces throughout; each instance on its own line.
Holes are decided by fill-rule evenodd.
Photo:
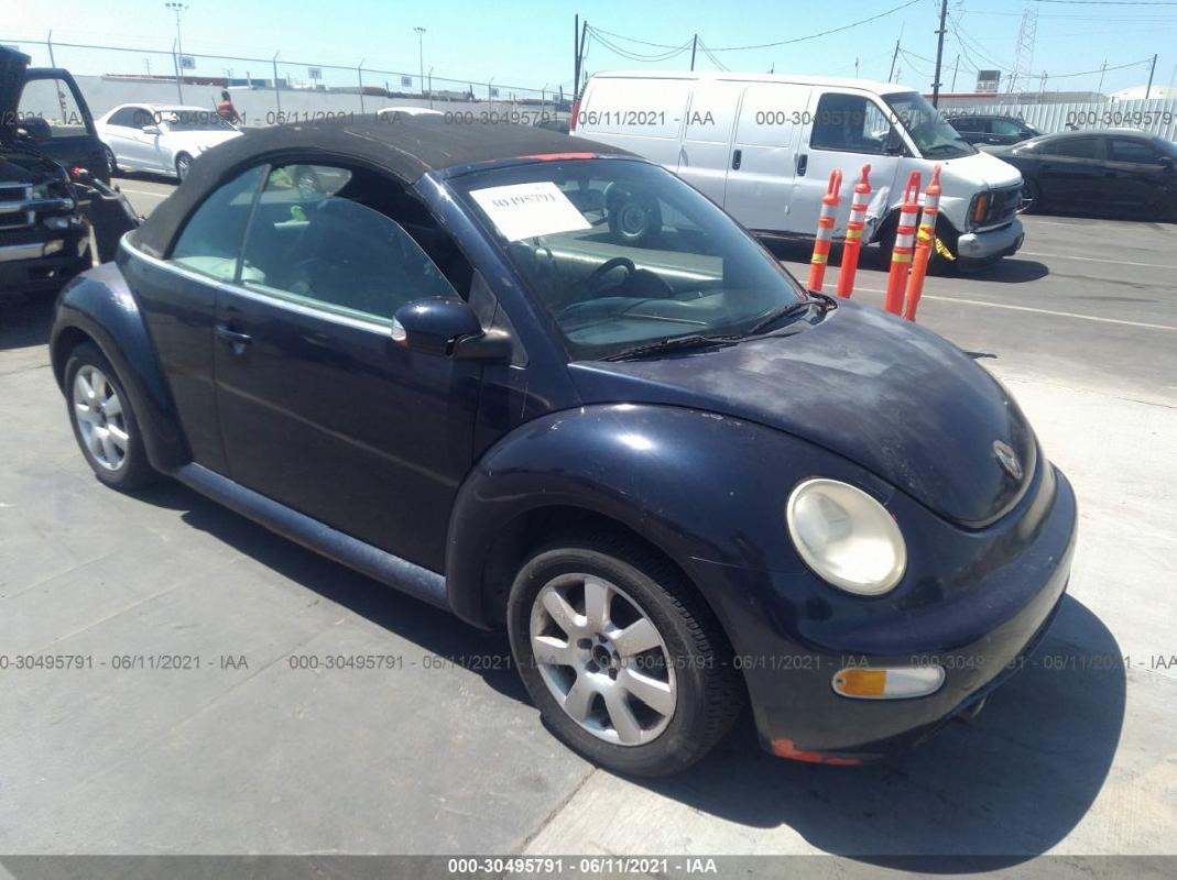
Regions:
M 511 588 L 507 628 L 548 728 L 619 773 L 685 769 L 743 706 L 706 604 L 669 564 L 609 536 L 532 555 Z

